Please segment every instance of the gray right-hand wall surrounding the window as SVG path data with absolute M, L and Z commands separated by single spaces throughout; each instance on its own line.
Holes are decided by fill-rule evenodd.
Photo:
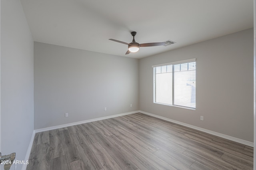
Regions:
M 196 111 L 153 103 L 151 66 L 190 58 Z M 140 59 L 139 68 L 141 111 L 253 142 L 253 29 Z

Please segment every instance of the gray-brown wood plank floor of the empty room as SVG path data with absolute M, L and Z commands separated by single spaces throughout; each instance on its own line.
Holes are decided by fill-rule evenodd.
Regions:
M 253 169 L 253 148 L 142 113 L 36 133 L 27 170 Z

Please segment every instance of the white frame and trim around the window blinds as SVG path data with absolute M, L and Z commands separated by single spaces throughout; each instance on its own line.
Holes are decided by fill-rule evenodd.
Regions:
M 154 90 L 153 90 L 153 102 L 157 103 L 157 104 L 161 104 L 161 105 L 168 105 L 168 106 L 173 106 L 173 107 L 180 107 L 180 108 L 184 108 L 184 109 L 190 109 L 190 110 L 196 110 L 196 105 L 195 107 L 187 107 L 187 106 L 180 106 L 180 105 L 174 105 L 174 101 L 170 101 L 171 104 L 167 104 L 166 103 L 158 103 L 156 102 L 156 74 L 155 74 L 155 67 L 160 67 L 160 66 L 168 66 L 168 65 L 177 65 L 177 64 L 182 64 L 182 63 L 190 63 L 190 62 L 196 62 L 196 58 L 194 59 L 186 59 L 186 60 L 182 60 L 182 61 L 174 61 L 174 62 L 170 62 L 170 63 L 163 63 L 163 64 L 158 64 L 158 65 L 152 65 L 153 68 L 153 86 L 154 86 Z M 196 82 L 195 82 L 196 83 Z M 172 93 L 175 93 L 174 91 L 174 86 L 172 85 Z M 196 95 L 196 94 L 194 94 Z

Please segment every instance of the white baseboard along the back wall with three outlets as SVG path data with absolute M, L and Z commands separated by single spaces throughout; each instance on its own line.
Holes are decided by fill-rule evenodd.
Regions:
M 79 122 L 74 122 L 74 123 L 67 123 L 67 124 L 64 124 L 64 125 L 57 125 L 57 126 L 53 126 L 53 127 L 40 128 L 40 129 L 36 129 L 34 131 L 35 131 L 35 133 L 44 132 L 44 131 L 47 131 L 47 130 L 53 130 L 53 129 L 64 128 L 64 127 L 70 127 L 70 126 L 74 126 L 74 125 L 80 125 L 80 124 L 83 124 L 83 123 L 89 123 L 89 122 L 100 121 L 100 120 L 109 119 L 109 118 L 113 118 L 113 117 L 130 115 L 130 114 L 138 113 L 138 112 L 139 111 L 132 111 L 132 112 L 127 112 L 127 113 L 121 113 L 121 114 L 117 114 L 117 115 L 100 117 L 100 118 L 96 118 L 96 119 L 89 119 L 89 120 L 85 120 L 85 121 L 79 121 Z

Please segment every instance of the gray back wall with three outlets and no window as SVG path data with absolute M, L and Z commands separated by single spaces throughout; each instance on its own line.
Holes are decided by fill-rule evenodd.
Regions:
M 136 111 L 138 81 L 138 59 L 35 42 L 34 128 Z

